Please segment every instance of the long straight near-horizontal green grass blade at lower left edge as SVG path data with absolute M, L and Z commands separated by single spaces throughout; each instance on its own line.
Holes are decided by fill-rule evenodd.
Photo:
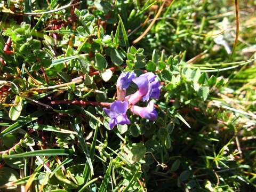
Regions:
M 35 157 L 35 156 L 58 156 L 58 155 L 70 155 L 73 154 L 73 150 L 71 149 L 43 149 L 43 150 L 35 150 L 29 151 L 21 154 L 15 155 L 5 155 L 3 159 L 10 158 L 23 158 L 23 157 Z

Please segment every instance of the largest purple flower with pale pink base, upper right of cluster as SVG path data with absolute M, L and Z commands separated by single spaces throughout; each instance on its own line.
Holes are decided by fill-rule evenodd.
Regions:
M 153 73 L 149 72 L 140 75 L 132 81 L 139 87 L 137 92 L 126 98 L 132 105 L 139 102 L 141 99 L 142 101 L 149 101 L 150 98 L 159 98 L 161 86 L 156 75 Z

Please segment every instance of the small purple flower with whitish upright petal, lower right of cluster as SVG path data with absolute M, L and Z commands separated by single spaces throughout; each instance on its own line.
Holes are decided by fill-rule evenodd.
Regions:
M 142 118 L 146 118 L 152 121 L 157 119 L 157 112 L 154 109 L 154 101 L 149 101 L 147 107 L 132 106 L 131 111 L 133 114 L 139 115 Z

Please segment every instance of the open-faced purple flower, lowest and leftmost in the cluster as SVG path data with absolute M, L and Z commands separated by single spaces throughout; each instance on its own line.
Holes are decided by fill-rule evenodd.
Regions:
M 110 109 L 103 108 L 105 113 L 111 118 L 109 122 L 110 129 L 117 124 L 130 124 L 130 120 L 126 116 L 129 103 L 126 101 L 115 101 L 111 104 Z

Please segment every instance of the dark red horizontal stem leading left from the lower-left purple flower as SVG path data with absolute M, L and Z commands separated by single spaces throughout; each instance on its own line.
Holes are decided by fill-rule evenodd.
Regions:
M 91 105 L 91 106 L 102 106 L 109 107 L 111 105 L 110 102 L 94 102 L 94 101 L 83 101 L 83 100 L 58 100 L 51 101 L 52 105 L 58 104 L 71 104 L 71 105 Z

